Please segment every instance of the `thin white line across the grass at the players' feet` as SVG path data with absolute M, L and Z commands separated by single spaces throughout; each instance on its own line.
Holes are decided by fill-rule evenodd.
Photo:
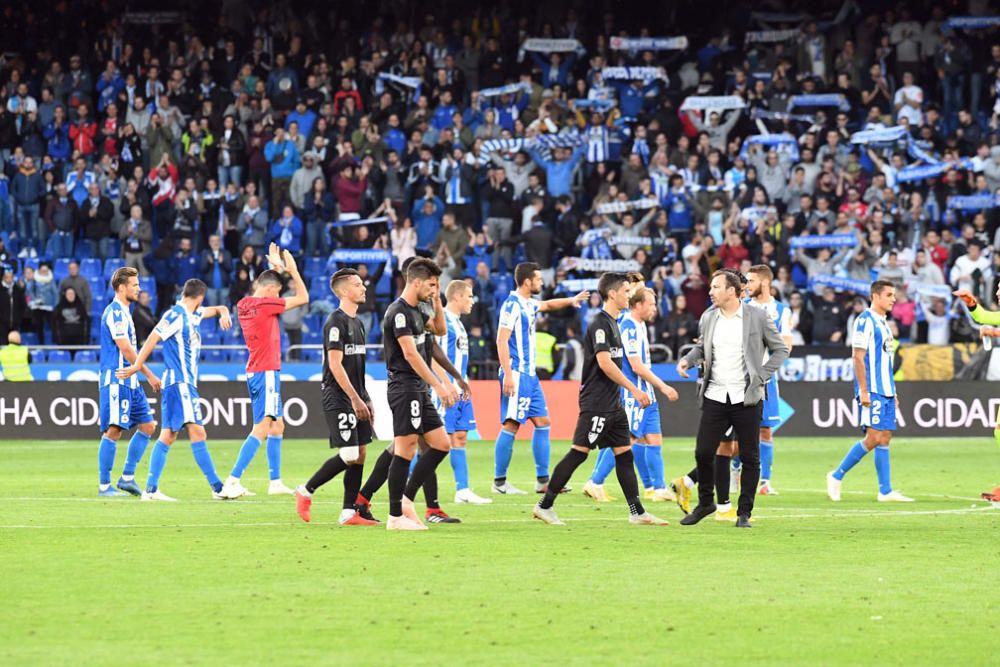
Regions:
M 939 514 L 975 514 L 982 513 L 993 509 L 990 506 L 986 507 L 975 507 L 967 509 L 953 509 L 953 510 L 872 510 L 870 512 L 865 512 L 866 516 L 871 517 L 883 517 L 883 516 L 932 516 Z M 754 521 L 774 521 L 776 519 L 830 519 L 838 518 L 837 515 L 842 514 L 837 510 L 831 510 L 828 514 L 786 514 L 782 516 L 755 516 Z M 854 518 L 859 516 L 858 513 L 852 513 L 848 515 L 849 518 Z M 622 517 L 578 517 L 567 519 L 570 525 L 574 523 L 624 523 L 625 519 Z M 240 523 L 176 523 L 176 524 L 96 524 L 96 525 L 68 525 L 68 526 L 49 526 L 49 525 L 27 525 L 27 524 L 8 524 L 0 525 L 0 530 L 114 530 L 114 529 L 127 529 L 127 530 L 141 530 L 141 529 L 177 529 L 177 528 L 267 528 L 267 527 L 289 527 L 293 525 L 299 525 L 301 522 L 294 520 L 289 521 L 261 521 L 261 522 L 240 522 Z M 501 523 L 518 523 L 518 524 L 529 524 L 532 523 L 532 519 L 529 516 L 524 518 L 516 519 L 481 519 L 472 520 L 468 522 L 470 525 L 480 525 L 480 524 L 501 524 Z M 339 524 L 335 521 L 313 521 L 312 525 L 316 526 L 338 526 Z M 435 529 L 436 530 L 436 529 Z M 445 529 L 448 530 L 448 529 Z

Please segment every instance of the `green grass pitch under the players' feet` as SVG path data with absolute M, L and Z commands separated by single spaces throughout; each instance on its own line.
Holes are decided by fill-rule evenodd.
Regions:
M 664 448 L 668 473 L 690 467 L 691 444 Z M 98 500 L 96 440 L 5 441 L 0 664 L 991 662 L 1000 510 L 976 498 L 1000 481 L 992 438 L 895 442 L 894 481 L 918 502 L 893 506 L 875 502 L 870 460 L 843 502 L 826 500 L 824 473 L 850 444 L 779 438 L 782 493 L 759 499 L 752 531 L 682 527 L 672 505 L 651 507 L 671 526 L 634 527 L 621 500 L 574 492 L 557 504 L 565 527 L 532 521 L 521 496 L 445 503 L 465 523 L 414 535 L 337 526 L 339 479 L 311 524 L 288 497 L 213 502 L 184 442 L 161 484 L 182 502 L 167 504 Z M 220 471 L 237 447 L 210 443 Z M 328 452 L 287 441 L 285 480 Z M 469 458 L 488 494 L 492 445 Z M 519 443 L 511 477 L 525 487 L 530 459 Z M 265 478 L 262 450 L 244 482 L 260 493 Z

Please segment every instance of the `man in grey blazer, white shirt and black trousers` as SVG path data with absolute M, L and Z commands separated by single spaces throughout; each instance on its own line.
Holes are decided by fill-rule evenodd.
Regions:
M 743 303 L 739 276 L 716 271 L 709 295 L 715 308 L 701 316 L 698 343 L 677 364 L 677 372 L 704 362 L 698 381 L 701 423 L 695 460 L 698 463 L 698 505 L 681 520 L 690 526 L 715 512 L 715 450 L 730 426 L 740 443 L 743 474 L 736 527 L 750 528 L 750 515 L 760 481 L 760 415 L 765 387 L 788 357 L 774 322 L 759 309 Z M 769 354 L 764 361 L 765 352 Z

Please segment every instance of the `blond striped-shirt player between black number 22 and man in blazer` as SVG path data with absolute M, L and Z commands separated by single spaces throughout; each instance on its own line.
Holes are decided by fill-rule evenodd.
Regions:
M 629 274 L 629 278 L 633 279 L 633 275 Z M 618 318 L 625 359 L 628 361 L 622 364 L 622 373 L 642 392 L 648 394 L 652 403 L 643 408 L 628 392 L 621 394 L 621 401 L 628 415 L 635 466 L 646 489 L 646 498 L 654 502 L 673 501 L 674 494 L 667 488 L 663 474 L 663 436 L 656 391 L 669 401 L 676 401 L 678 394 L 653 373 L 648 326 L 656 318 L 656 293 L 643 284 L 642 274 L 636 277 L 638 280 L 633 281 L 635 287 L 629 297 L 629 310 L 623 311 Z M 601 450 L 594 473 L 583 487 L 584 495 L 598 502 L 610 500 L 604 491 L 604 480 L 615 467 L 613 452 L 609 456 L 604 451 Z

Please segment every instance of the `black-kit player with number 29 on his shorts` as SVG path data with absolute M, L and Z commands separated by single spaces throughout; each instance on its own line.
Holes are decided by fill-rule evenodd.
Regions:
M 330 447 L 340 451 L 327 459 L 308 482 L 295 489 L 296 510 L 303 521 L 309 521 L 312 494 L 343 472 L 344 505 L 340 523 L 371 526 L 378 522 L 361 516 L 354 507 L 364 472 L 365 446 L 374 437 L 372 402 L 365 388 L 368 336 L 357 318 L 366 289 L 357 271 L 341 269 L 330 278 L 330 291 L 340 299 L 340 308 L 330 314 L 323 327 L 323 414 L 330 430 Z

